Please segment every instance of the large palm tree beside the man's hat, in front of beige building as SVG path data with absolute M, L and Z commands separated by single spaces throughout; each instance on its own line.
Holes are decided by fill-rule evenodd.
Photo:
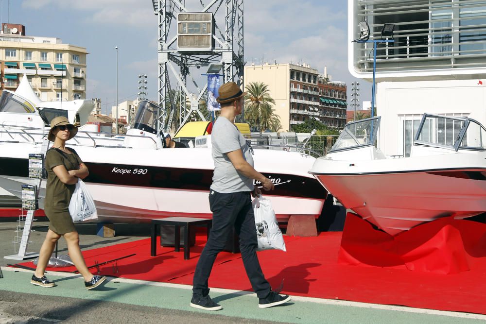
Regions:
M 277 132 L 280 129 L 280 120 L 273 109 L 275 100 L 270 97 L 268 85 L 262 82 L 251 82 L 246 86 L 247 94 L 244 97 L 244 119 L 260 129 L 269 129 Z

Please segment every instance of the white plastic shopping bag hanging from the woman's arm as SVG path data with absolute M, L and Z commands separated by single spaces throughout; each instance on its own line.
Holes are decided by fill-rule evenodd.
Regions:
M 78 179 L 76 188 L 72 193 L 71 201 L 69 202 L 69 215 L 71 215 L 72 222 L 75 223 L 98 219 L 93 197 L 91 197 L 86 184 L 81 179 Z

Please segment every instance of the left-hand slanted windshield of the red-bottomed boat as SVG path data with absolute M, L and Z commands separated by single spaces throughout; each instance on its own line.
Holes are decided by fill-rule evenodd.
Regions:
M 347 123 L 329 153 L 375 145 L 380 119 L 373 117 Z

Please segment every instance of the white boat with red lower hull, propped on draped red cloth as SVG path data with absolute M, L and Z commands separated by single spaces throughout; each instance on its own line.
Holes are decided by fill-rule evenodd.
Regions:
M 410 157 L 385 156 L 375 147 L 379 125 L 379 117 L 348 123 L 312 166 L 310 173 L 339 202 L 391 235 L 486 211 L 483 125 L 425 114 Z

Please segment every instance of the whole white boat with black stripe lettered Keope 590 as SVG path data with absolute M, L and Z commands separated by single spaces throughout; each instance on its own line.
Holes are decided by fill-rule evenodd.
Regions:
M 6 105 L 22 106 L 23 102 L 4 93 L 0 100 L 0 120 Z M 38 111 L 23 114 L 34 119 Z M 194 148 L 164 148 L 164 134 L 161 133 L 164 116 L 161 108 L 144 101 L 139 103 L 122 145 L 98 145 L 104 139 L 83 137 L 89 135 L 83 130 L 67 142 L 89 168 L 85 182 L 101 221 L 211 217 L 208 192 L 214 165 L 210 136 L 196 138 Z M 31 182 L 27 172 L 28 153 L 45 150 L 47 133 L 47 128 L 0 129 L 1 188 L 20 197 L 21 184 Z M 304 153 L 255 149 L 254 160 L 256 169 L 275 184 L 274 191 L 264 194 L 272 201 L 280 221 L 291 215 L 320 215 L 327 192 L 308 173 L 314 157 Z M 45 188 L 41 187 L 40 208 L 44 195 Z

